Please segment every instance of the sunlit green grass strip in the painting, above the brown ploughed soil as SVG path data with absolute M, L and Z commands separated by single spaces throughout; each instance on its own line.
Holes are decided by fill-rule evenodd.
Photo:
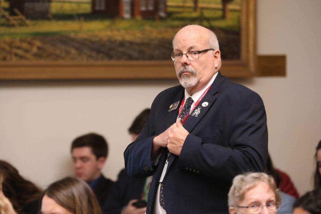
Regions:
M 181 0 L 171 0 L 180 2 Z M 210 2 L 210 0 L 203 0 Z M 203 2 L 200 1 L 200 2 Z M 217 0 L 218 2 L 220 0 Z M 170 1 L 169 1 L 170 2 Z M 232 2 L 233 3 L 233 2 Z M 3 3 L 8 10 L 8 2 Z M 239 11 L 231 11 L 229 20 L 222 20 L 220 9 L 202 9 L 201 14 L 192 8 L 168 7 L 168 17 L 154 19 L 111 19 L 91 14 L 89 3 L 51 3 L 52 18 L 47 20 L 31 20 L 31 26 L 10 26 L 4 18 L 0 19 L 0 37 L 20 38 L 36 35 L 59 35 L 65 33 L 97 32 L 110 29 L 144 29 L 183 26 L 190 23 L 203 24 L 207 27 L 218 27 L 230 31 L 239 31 Z M 83 21 L 81 21 L 83 17 Z M 201 22 L 201 23 L 200 23 Z

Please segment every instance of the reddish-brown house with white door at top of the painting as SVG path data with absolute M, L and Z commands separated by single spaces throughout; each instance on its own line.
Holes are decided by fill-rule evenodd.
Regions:
M 152 18 L 167 15 L 166 0 L 91 0 L 94 14 L 120 18 Z

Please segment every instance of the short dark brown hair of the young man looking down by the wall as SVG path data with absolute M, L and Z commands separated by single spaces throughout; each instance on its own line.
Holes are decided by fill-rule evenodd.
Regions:
M 107 158 L 108 144 L 105 138 L 96 133 L 89 133 L 77 137 L 71 144 L 71 152 L 74 148 L 88 146 L 91 148 L 92 153 L 96 156 L 96 159 L 100 157 Z

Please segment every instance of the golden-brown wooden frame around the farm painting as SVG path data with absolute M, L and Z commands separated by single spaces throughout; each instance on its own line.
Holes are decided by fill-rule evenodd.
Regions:
M 221 72 L 244 78 L 256 74 L 256 0 L 241 1 L 240 60 L 224 60 Z M 0 62 L 0 80 L 176 79 L 173 62 Z

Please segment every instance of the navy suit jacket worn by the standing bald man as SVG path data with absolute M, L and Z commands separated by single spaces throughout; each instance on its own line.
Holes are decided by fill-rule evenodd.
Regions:
M 153 175 L 147 214 L 153 213 L 160 175 L 167 158 L 162 148 L 152 165 L 153 138 L 175 123 L 184 88 L 175 86 L 154 99 L 149 121 L 136 141 L 124 152 L 126 171 L 131 176 Z M 203 102 L 207 107 L 202 107 Z M 179 105 L 178 105 L 179 106 Z M 264 171 L 267 159 L 266 113 L 262 99 L 248 88 L 233 83 L 220 73 L 207 94 L 195 107 L 183 127 L 187 135 L 180 156 L 171 154 L 163 180 L 165 210 L 176 213 L 228 213 L 227 194 L 235 175 Z

